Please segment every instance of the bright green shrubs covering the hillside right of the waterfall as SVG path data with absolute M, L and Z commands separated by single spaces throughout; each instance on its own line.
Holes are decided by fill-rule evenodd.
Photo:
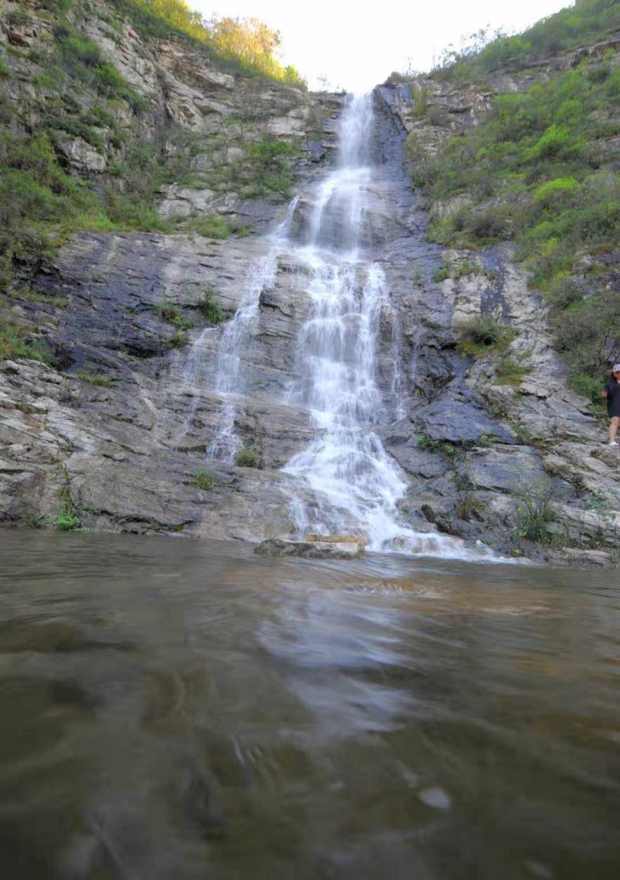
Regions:
M 520 37 L 478 41 L 433 76 L 475 82 L 508 62 L 522 67 L 602 40 L 618 26 L 617 0 L 585 0 Z M 619 135 L 620 55 L 609 49 L 525 93 L 498 95 L 479 124 L 449 138 L 437 157 L 423 136 L 409 143 L 414 177 L 432 199 L 467 196 L 452 216 L 432 218 L 430 238 L 465 248 L 516 242 L 517 259 L 550 306 L 569 381 L 593 403 L 609 362 L 620 357 L 613 268 L 620 248 Z M 504 376 L 514 365 L 505 366 Z

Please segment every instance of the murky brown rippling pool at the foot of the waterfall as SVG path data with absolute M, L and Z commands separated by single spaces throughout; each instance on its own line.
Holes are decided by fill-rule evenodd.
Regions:
M 615 572 L 0 554 L 7 880 L 620 876 Z

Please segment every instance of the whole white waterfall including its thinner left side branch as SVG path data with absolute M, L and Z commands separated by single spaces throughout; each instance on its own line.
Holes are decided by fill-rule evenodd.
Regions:
M 365 536 L 371 550 L 480 558 L 484 548 L 469 552 L 459 539 L 416 532 L 406 523 L 398 503 L 408 480 L 380 439 L 380 428 L 402 418 L 406 407 L 399 322 L 373 250 L 372 199 L 381 181 L 380 167 L 373 164 L 373 132 L 371 96 L 352 98 L 340 121 L 337 161 L 311 188 L 309 212 L 301 212 L 293 233 L 299 200 L 291 202 L 269 235 L 268 252 L 247 274 L 237 312 L 218 330 L 215 390 L 221 404 L 207 458 L 232 463 L 241 447 L 235 418 L 249 391 L 244 356 L 257 330 L 261 293 L 275 282 L 283 253 L 306 280 L 311 306 L 299 326 L 294 375 L 284 400 L 306 412 L 314 429 L 307 448 L 282 469 L 287 477 L 281 488 L 291 499 L 295 533 L 355 532 Z M 382 323 L 391 334 L 392 361 L 383 391 L 378 381 Z

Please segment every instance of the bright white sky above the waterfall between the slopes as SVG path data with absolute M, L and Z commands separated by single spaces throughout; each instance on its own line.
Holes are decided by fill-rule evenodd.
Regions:
M 392 70 L 429 70 L 450 43 L 491 25 L 523 30 L 571 0 L 188 0 L 205 18 L 260 18 L 282 36 L 284 63 L 310 88 L 365 92 Z

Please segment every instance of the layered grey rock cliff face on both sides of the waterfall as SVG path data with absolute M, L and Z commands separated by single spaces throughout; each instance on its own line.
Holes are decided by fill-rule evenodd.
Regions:
M 6 4 L 0 19 L 10 68 L 4 106 L 16 136 L 32 133 L 51 99 L 37 59 L 52 32 L 35 3 L 27 20 L 11 17 L 24 6 Z M 17 358 L 0 366 L 0 517 L 247 540 L 290 533 L 292 478 L 278 469 L 311 436 L 307 415 L 283 402 L 308 310 L 304 276 L 278 255 L 243 355 L 235 429 L 258 453 L 259 468 L 205 463 L 220 417 L 213 389 L 222 328 L 203 331 L 218 309 L 232 318 L 269 250 L 264 232 L 284 216 L 286 187 L 264 185 L 253 147 L 294 146 L 285 170 L 299 194 L 293 224 L 303 236 L 308 189 L 329 162 L 343 97 L 218 70 L 184 41 L 144 41 L 106 4 L 81 4 L 80 13 L 80 26 L 146 110 L 112 106 L 114 125 L 91 136 L 97 148 L 61 129 L 55 144 L 66 166 L 104 187 L 127 143 L 163 138 L 171 163 L 179 150 L 190 153 L 190 175 L 159 190 L 159 216 L 181 218 L 176 231 L 85 231 L 18 265 L 21 284 L 5 306 L 46 346 L 50 363 Z M 453 87 L 439 92 L 463 126 L 487 101 Z M 92 106 L 97 96 L 85 89 L 79 100 Z M 394 306 L 381 323 L 379 377 L 392 413 L 399 340 L 407 414 L 383 436 L 410 480 L 402 513 L 421 531 L 482 539 L 505 553 L 608 561 L 620 526 L 616 451 L 602 445 L 587 401 L 566 387 L 545 310 L 510 244 L 476 254 L 471 270 L 469 254 L 442 253 L 425 240 L 428 215 L 402 171 L 402 138 L 425 126 L 439 143 L 442 127 L 410 114 L 411 101 L 408 87 L 375 91 L 386 173 L 368 221 Z M 228 238 L 196 231 L 196 221 L 212 224 L 213 216 L 225 219 Z M 446 265 L 451 275 L 437 280 Z M 528 354 L 531 370 L 518 387 L 498 385 L 492 361 L 457 351 L 455 323 L 488 311 L 513 326 L 510 350 Z M 196 475 L 205 470 L 212 484 L 200 488 Z M 541 487 L 552 494 L 555 548 L 520 537 L 520 495 Z

